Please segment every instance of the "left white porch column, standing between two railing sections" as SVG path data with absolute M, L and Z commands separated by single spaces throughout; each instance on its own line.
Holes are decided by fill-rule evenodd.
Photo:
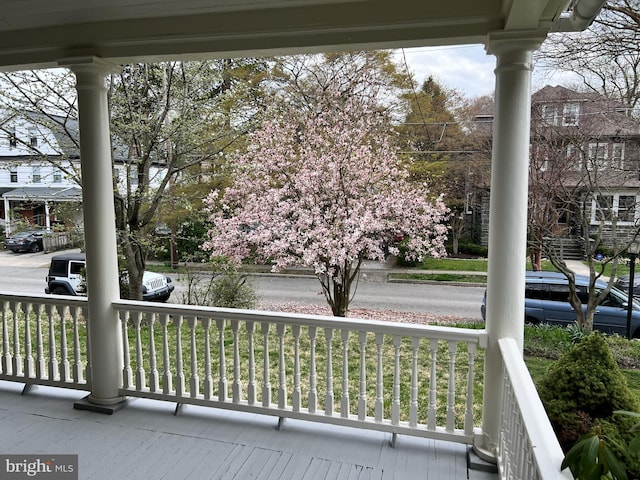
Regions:
M 112 307 L 120 298 L 111 139 L 105 77 L 115 65 L 87 57 L 64 62 L 76 75 L 80 166 L 87 257 L 91 394 L 76 408 L 122 405 L 122 330 Z M 95 407 L 92 407 L 95 406 Z M 117 407 L 116 407 L 117 408 Z M 111 409 L 113 410 L 113 409 Z

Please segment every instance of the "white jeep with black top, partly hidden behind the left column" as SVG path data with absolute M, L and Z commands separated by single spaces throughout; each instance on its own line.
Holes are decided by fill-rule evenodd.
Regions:
M 86 260 L 84 253 L 66 253 L 51 257 L 45 293 L 54 295 L 86 295 Z M 120 276 L 121 287 L 126 275 Z M 174 290 L 171 278 L 155 272 L 144 272 L 142 299 L 150 302 L 166 302 Z

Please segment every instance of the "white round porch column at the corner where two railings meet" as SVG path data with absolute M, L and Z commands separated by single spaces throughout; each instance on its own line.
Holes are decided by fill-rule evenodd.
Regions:
M 527 247 L 531 56 L 544 40 L 539 32 L 490 35 L 487 52 L 497 57 L 487 277 L 483 433 L 476 451 L 494 456 L 500 428 L 504 374 L 498 340 L 524 338 L 524 276 Z

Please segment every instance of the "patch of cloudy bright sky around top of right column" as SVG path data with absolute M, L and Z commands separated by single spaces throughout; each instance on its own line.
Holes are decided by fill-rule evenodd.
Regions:
M 432 75 L 438 83 L 455 88 L 468 98 L 493 95 L 496 59 L 486 54 L 484 45 L 405 48 L 396 51 L 396 59 L 401 65 L 405 58 L 418 82 L 416 88 Z M 536 91 L 547 84 L 567 85 L 571 81 L 571 77 L 550 75 L 549 72 L 534 68 L 532 89 Z

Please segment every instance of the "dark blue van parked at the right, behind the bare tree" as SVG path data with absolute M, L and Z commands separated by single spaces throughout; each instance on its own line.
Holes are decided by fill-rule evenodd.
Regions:
M 576 275 L 578 297 L 586 310 L 589 277 Z M 603 281 L 596 282 L 597 289 L 606 288 Z M 604 333 L 627 335 L 627 294 L 615 286 L 596 308 L 594 329 Z M 485 297 L 480 308 L 485 318 Z M 640 338 L 640 304 L 633 301 L 631 334 Z M 576 313 L 569 303 L 569 281 L 559 272 L 527 272 L 525 279 L 524 321 L 531 324 L 549 323 L 567 326 L 576 321 Z

